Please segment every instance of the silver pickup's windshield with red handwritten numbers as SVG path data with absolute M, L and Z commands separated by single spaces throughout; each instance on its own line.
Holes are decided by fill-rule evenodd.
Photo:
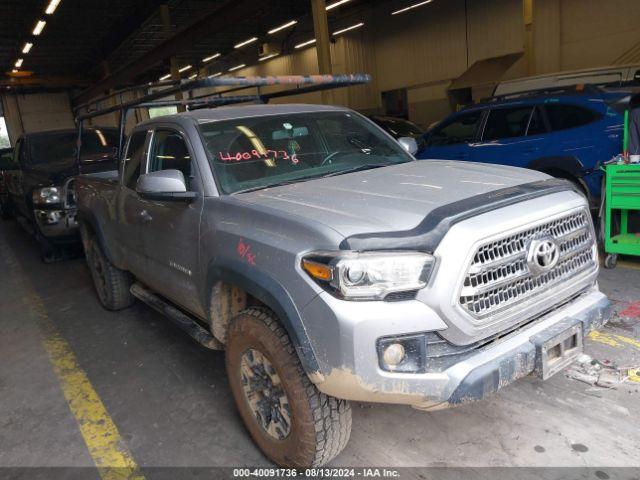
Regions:
M 227 194 L 413 160 L 350 112 L 239 118 L 203 123 L 200 130 Z

